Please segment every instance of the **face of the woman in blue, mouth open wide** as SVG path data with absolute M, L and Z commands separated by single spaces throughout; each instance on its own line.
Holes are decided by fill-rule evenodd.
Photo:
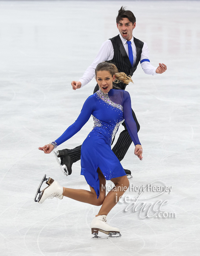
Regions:
M 110 89 L 113 89 L 113 81 L 115 80 L 115 75 L 112 77 L 109 71 L 98 71 L 96 74 L 96 81 L 104 93 L 108 93 Z

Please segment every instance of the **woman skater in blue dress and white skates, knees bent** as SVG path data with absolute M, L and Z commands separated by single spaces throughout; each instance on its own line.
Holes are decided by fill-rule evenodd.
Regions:
M 99 231 L 121 236 L 116 227 L 106 223 L 107 214 L 117 204 L 120 196 L 128 189 L 129 181 L 116 155 L 111 150 L 111 143 L 119 125 L 125 120 L 128 132 L 135 144 L 135 154 L 142 160 L 142 146 L 137 135 L 136 123 L 132 116 L 130 95 L 124 90 L 114 90 L 113 81 L 128 84 L 131 80 L 125 73 L 118 73 L 114 64 L 103 62 L 96 67 L 96 81 L 100 90 L 89 96 L 77 120 L 54 142 L 39 149 L 49 154 L 57 145 L 64 143 L 76 134 L 88 121 L 91 115 L 94 127 L 81 147 L 81 175 L 84 175 L 90 186 L 90 191 L 70 189 L 59 185 L 52 178 L 43 178 L 49 186 L 40 191 L 38 188 L 38 203 L 47 198 L 63 196 L 87 204 L 101 205 L 101 209 L 91 223 L 92 234 L 98 238 Z M 132 81 L 133 82 L 133 81 Z M 106 180 L 111 180 L 115 187 L 106 195 Z M 36 196 L 38 195 L 36 193 Z M 36 198 L 36 197 L 35 197 Z

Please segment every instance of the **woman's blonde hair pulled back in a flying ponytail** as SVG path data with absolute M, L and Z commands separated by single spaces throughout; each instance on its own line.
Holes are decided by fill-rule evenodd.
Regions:
M 110 72 L 111 76 L 113 77 L 115 75 L 115 81 L 114 83 L 118 84 L 120 82 L 124 84 L 129 84 L 130 82 L 133 83 L 133 80 L 131 79 L 131 76 L 127 76 L 124 72 L 119 72 L 117 67 L 109 62 L 101 62 L 96 66 L 95 69 L 95 75 L 99 71 L 108 71 Z

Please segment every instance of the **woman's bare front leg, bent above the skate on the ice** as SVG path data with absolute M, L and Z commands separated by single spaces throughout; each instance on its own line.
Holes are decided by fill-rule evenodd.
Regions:
M 110 190 L 110 192 L 108 192 L 107 196 L 105 197 L 98 215 L 107 215 L 110 210 L 117 204 L 119 197 L 122 196 L 129 187 L 127 176 L 113 178 L 111 181 L 115 184 L 115 186 L 112 190 Z

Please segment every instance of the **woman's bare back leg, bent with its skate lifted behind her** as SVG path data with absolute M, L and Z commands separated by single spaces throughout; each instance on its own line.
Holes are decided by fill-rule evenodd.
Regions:
M 90 186 L 90 191 L 87 191 L 84 189 L 68 189 L 68 188 L 64 187 L 63 195 L 68 198 L 72 198 L 74 200 L 84 202 L 87 204 L 93 204 L 96 206 L 101 205 L 106 196 L 106 190 L 105 190 L 106 179 L 99 168 L 98 168 L 97 172 L 99 174 L 99 185 L 100 185 L 98 199 L 96 197 L 95 190 L 91 186 Z

